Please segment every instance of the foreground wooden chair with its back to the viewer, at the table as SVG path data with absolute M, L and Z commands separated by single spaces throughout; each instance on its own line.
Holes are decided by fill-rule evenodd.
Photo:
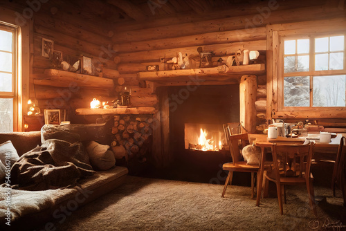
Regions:
M 273 144 L 273 171 L 267 171 L 265 185 L 268 181 L 276 184 L 280 213 L 283 214 L 282 191 L 286 203 L 285 185 L 306 185 L 309 203 L 313 214 L 317 216 L 313 192 L 313 176 L 310 172 L 314 143 L 306 140 L 302 145 Z M 264 186 L 266 190 L 268 187 Z

